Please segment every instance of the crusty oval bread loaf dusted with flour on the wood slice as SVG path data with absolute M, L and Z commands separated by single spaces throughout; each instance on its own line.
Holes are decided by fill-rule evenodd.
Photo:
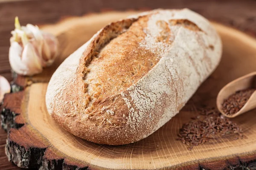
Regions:
M 53 74 L 49 114 L 100 144 L 139 141 L 185 105 L 221 59 L 221 40 L 189 9 L 154 10 L 109 24 Z

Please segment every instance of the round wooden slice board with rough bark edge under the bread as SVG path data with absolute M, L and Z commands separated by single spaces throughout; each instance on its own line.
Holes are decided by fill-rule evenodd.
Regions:
M 212 23 L 223 41 L 223 58 L 214 73 L 200 86 L 186 106 L 147 138 L 123 146 L 87 142 L 67 133 L 47 113 L 47 82 L 58 65 L 100 28 L 136 12 L 107 12 L 68 18 L 43 27 L 60 42 L 54 65 L 34 77 L 15 78 L 16 89 L 7 94 L 1 113 L 8 131 L 6 154 L 24 168 L 41 169 L 182 169 L 223 170 L 256 167 L 256 110 L 232 119 L 244 129 L 247 139 L 234 136 L 212 139 L 188 150 L 176 141 L 183 123 L 197 114 L 196 108 L 215 106 L 218 91 L 228 82 L 256 71 L 256 40 L 233 28 Z

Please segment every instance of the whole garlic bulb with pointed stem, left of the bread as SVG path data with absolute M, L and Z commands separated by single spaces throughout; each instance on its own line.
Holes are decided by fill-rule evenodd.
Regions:
M 41 31 L 38 26 L 20 26 L 15 17 L 15 30 L 11 34 L 9 62 L 17 74 L 39 74 L 57 56 L 58 40 L 54 35 Z

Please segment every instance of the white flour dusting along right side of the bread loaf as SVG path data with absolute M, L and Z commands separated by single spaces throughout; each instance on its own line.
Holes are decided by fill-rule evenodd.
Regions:
M 146 122 L 151 121 L 152 116 L 150 113 L 166 112 L 166 114 L 163 114 L 163 117 L 154 130 L 161 127 L 183 107 L 189 99 L 188 96 L 192 96 L 198 88 L 198 85 L 209 76 L 211 72 L 208 70 L 212 70 L 212 65 L 216 66 L 219 62 L 220 58 L 218 57 L 211 58 L 211 65 L 205 65 L 204 62 L 201 62 L 204 60 L 205 53 L 210 53 L 212 51 L 211 49 L 206 48 L 208 44 L 215 44 L 216 41 L 215 39 L 208 38 L 204 46 L 198 44 L 198 41 L 200 41 L 198 40 L 198 35 L 202 37 L 202 40 L 207 39 L 206 37 L 208 35 L 205 34 L 207 30 L 190 31 L 182 26 L 172 25 L 172 22 L 170 22 L 176 19 L 188 20 L 187 17 L 184 17 L 188 16 L 187 13 L 192 12 L 187 9 L 175 12 L 159 11 L 156 14 L 152 14 L 149 18 L 148 27 L 144 28 L 147 36 L 144 41 L 140 42 L 140 45 L 152 51 L 161 59 L 145 77 L 137 82 L 137 85 L 128 89 L 131 101 L 135 104 L 136 108 L 132 108 L 131 101 L 123 97 L 128 104 L 131 116 L 137 118 L 137 120 L 128 119 L 132 120 L 132 122 L 128 121 L 128 123 L 137 124 L 137 126 L 142 125 L 141 120 L 144 121 L 145 119 L 147 120 Z M 204 30 L 209 27 L 205 26 L 208 24 L 207 20 L 204 20 L 204 23 L 201 18 L 198 20 L 192 18 L 192 20 L 195 22 L 195 25 L 198 24 L 202 26 L 202 28 L 198 30 Z M 165 29 L 169 31 L 169 36 L 165 37 L 166 39 L 162 41 L 159 41 L 158 37 L 163 35 L 161 32 L 166 30 L 163 30 L 163 27 L 159 26 L 159 21 L 168 24 L 168 28 Z M 218 45 L 216 48 L 217 51 L 221 51 L 221 45 Z M 185 57 L 187 59 L 184 59 Z M 207 59 L 210 59 L 210 56 L 206 57 Z M 207 74 L 201 75 L 198 73 Z M 169 79 L 172 80 L 171 84 L 169 84 Z M 191 86 L 192 88 L 184 88 L 184 85 L 186 85 L 186 87 Z M 168 101 L 168 103 L 166 103 L 169 107 L 169 109 L 167 109 L 168 111 L 162 110 L 163 108 L 167 108 L 166 104 L 161 103 L 161 97 L 164 93 L 169 99 L 176 100 L 175 102 L 166 100 L 166 102 Z M 160 107 L 157 108 L 156 105 L 160 105 Z M 138 110 L 137 113 L 134 113 L 134 110 Z M 133 125 L 133 127 L 135 126 Z M 154 130 L 152 130 L 152 132 L 154 132 Z

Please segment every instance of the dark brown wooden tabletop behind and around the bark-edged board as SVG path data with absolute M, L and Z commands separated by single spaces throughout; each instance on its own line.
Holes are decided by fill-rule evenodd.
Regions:
M 185 7 L 256 37 L 256 0 L 0 0 L 0 75 L 12 80 L 8 52 L 15 16 L 22 25 L 40 26 L 92 12 Z M 6 136 L 0 129 L 0 170 L 19 169 L 4 153 Z

